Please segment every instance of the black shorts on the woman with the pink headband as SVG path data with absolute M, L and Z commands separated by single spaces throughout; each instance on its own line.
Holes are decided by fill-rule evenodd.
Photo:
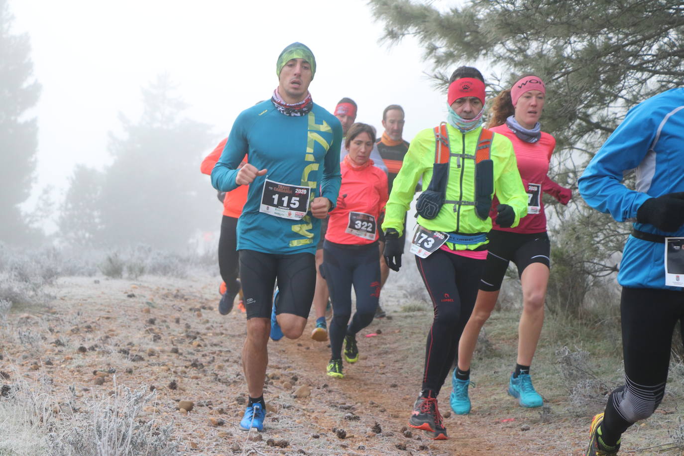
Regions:
M 508 263 L 518 267 L 518 277 L 532 263 L 542 263 L 551 267 L 551 244 L 546 232 L 523 234 L 509 231 L 491 230 L 487 234 L 489 244 L 487 262 L 479 281 L 482 291 L 498 291 L 505 276 Z

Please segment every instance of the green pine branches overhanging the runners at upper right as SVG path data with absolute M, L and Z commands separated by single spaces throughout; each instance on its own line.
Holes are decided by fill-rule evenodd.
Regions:
M 629 107 L 684 83 L 681 0 L 470 0 L 442 11 L 432 2 L 370 0 L 384 39 L 415 36 L 436 77 L 484 59 L 502 72 L 492 95 L 534 73 L 547 85 L 544 129 L 558 148 L 589 152 Z

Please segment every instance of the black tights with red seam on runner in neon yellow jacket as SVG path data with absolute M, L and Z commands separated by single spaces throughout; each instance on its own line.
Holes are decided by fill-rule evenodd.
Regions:
M 434 308 L 422 390 L 436 396 L 453 366 L 458 340 L 475 307 L 485 260 L 437 250 L 428 258 L 416 256 L 416 263 Z

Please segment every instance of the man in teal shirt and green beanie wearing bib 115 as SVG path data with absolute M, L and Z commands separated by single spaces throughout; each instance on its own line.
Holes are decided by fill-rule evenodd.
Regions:
M 278 87 L 272 98 L 237 116 L 211 172 L 218 190 L 249 185 L 237 222 L 247 312 L 242 365 L 249 402 L 240 423 L 243 431 L 263 430 L 263 381 L 276 278 L 274 326 L 288 338 L 298 338 L 313 299 L 320 219 L 334 208 L 339 193 L 342 127 L 311 100 L 308 85 L 315 72 L 316 60 L 308 47 L 298 42 L 287 46 L 276 63 Z M 248 163 L 239 168 L 245 154 Z

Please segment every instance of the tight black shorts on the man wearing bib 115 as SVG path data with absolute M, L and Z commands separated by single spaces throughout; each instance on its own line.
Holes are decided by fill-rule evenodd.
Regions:
M 247 319 L 271 318 L 276 279 L 279 290 L 276 314 L 308 318 L 316 286 L 315 256 L 240 250 L 240 281 Z

